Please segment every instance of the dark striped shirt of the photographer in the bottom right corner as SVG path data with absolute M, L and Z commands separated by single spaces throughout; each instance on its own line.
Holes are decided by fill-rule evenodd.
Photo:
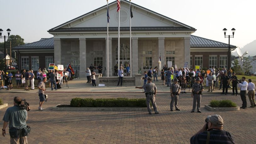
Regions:
M 225 130 L 210 130 L 209 144 L 232 144 L 235 143 L 233 136 Z M 205 144 L 207 140 L 207 131 L 201 132 L 190 138 L 191 144 Z

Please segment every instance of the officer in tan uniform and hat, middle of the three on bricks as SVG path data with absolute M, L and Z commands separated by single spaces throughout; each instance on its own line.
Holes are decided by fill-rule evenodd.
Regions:
M 177 78 L 175 78 L 174 83 L 171 84 L 171 86 L 170 86 L 170 91 L 171 91 L 170 109 L 171 109 L 171 111 L 173 111 L 174 101 L 175 101 L 175 110 L 180 111 L 180 109 L 178 108 L 178 99 L 179 99 L 181 86 L 178 84 L 178 81 L 179 80 Z

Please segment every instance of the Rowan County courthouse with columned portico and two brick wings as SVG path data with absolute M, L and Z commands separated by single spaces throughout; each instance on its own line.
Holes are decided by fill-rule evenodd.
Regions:
M 120 3 L 120 64 L 125 66 L 129 63 L 132 74 L 137 74 L 139 69 L 143 72 L 158 66 L 160 55 L 162 66 L 167 64 L 167 61 L 172 61 L 172 64 L 178 67 L 183 67 L 185 62 L 188 62 L 188 67 L 191 68 L 195 65 L 227 66 L 227 44 L 192 36 L 195 28 L 135 3 L 131 3 L 133 18 L 130 46 L 130 2 L 121 0 Z M 85 76 L 85 69 L 91 64 L 95 67 L 102 64 L 104 70 L 109 61 L 109 76 L 114 75 L 114 65 L 118 63 L 116 7 L 116 1 L 109 3 L 109 51 L 105 5 L 48 30 L 53 38 L 31 43 L 37 45 L 35 48 L 27 47 L 26 51 L 26 45 L 15 47 L 14 50 L 19 52 L 19 65 L 24 68 L 26 64 L 29 69 L 35 69 L 35 64 L 36 67 L 47 67 L 48 63 L 64 66 L 70 63 L 73 69 L 79 71 L 80 76 Z M 231 46 L 231 49 L 234 48 L 235 46 Z M 37 58 L 38 63 L 35 63 L 34 58 Z M 44 64 L 39 64 L 39 59 L 40 63 L 41 59 L 45 59 Z M 107 70 L 106 68 L 105 74 Z

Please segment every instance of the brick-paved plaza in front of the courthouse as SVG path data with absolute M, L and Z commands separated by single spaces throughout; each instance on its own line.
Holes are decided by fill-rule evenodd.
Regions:
M 52 107 L 60 103 L 70 103 L 74 97 L 145 97 L 144 93 L 134 89 L 134 86 L 97 87 L 83 83 L 84 80 L 73 80 L 70 88 L 49 91 L 49 99 L 43 104 L 44 111 L 38 111 L 39 98 L 36 90 L 24 93 L 23 90 L 11 90 L 9 93 L 0 91 L 0 97 L 9 106 L 13 105 L 13 97 L 25 98 L 31 106 L 28 112 L 27 124 L 31 126 L 29 143 L 189 143 L 190 137 L 204 124 L 208 115 L 220 114 L 224 119 L 224 130 L 229 131 L 236 143 L 256 143 L 255 111 L 256 108 L 241 109 L 240 111 L 210 112 L 204 107 L 212 99 L 231 99 L 238 106 L 242 105 L 240 96 L 220 95 L 220 91 L 203 92 L 202 113 L 190 113 L 192 109 L 191 93 L 181 94 L 179 108 L 181 111 L 170 112 L 169 88 L 160 86 L 156 103 L 160 114 L 149 115 L 145 112 L 115 112 L 115 111 L 52 111 Z M 77 88 L 74 88 L 77 87 Z M 109 89 L 109 90 L 108 90 Z M 112 93 L 106 93 L 112 91 Z M 125 93 L 120 93 L 121 91 Z M 128 91 L 132 91 L 129 93 Z M 229 91 L 230 92 L 230 91 Z M 230 93 L 231 94 L 231 93 Z M 247 100 L 248 106 L 249 100 Z M 3 115 L 7 108 L 0 109 L 1 128 Z M 7 128 L 6 137 L 0 137 L 0 143 L 9 143 Z

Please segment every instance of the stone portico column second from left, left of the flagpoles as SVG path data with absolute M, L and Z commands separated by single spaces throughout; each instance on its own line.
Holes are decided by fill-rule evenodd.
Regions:
M 86 77 L 86 38 L 79 38 L 80 70 L 79 76 Z

